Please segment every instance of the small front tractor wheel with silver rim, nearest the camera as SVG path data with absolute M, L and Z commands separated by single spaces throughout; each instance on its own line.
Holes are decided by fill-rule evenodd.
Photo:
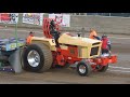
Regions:
M 87 65 L 84 61 L 80 61 L 78 65 L 77 65 L 77 72 L 79 73 L 79 75 L 81 77 L 88 77 L 90 75 L 92 71 L 92 68 L 90 65 Z

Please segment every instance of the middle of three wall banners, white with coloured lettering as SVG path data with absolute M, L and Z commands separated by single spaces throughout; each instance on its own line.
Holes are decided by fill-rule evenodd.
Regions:
M 23 13 L 23 23 L 42 26 L 43 13 Z

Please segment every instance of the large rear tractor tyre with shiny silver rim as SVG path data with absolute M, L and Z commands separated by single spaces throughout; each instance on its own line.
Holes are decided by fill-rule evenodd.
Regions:
M 27 71 L 47 71 L 51 68 L 52 61 L 52 53 L 43 43 L 32 43 L 23 53 L 23 68 Z

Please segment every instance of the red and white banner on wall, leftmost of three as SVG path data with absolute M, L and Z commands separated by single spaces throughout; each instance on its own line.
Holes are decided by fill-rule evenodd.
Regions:
M 0 13 L 0 23 L 17 24 L 18 13 Z

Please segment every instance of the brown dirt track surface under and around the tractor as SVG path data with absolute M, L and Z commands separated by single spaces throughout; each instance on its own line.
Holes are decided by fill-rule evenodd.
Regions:
M 27 30 L 27 31 L 26 31 Z M 42 36 L 42 30 L 34 30 Z M 28 29 L 18 29 L 18 37 L 27 37 Z M 0 28 L 0 37 L 13 37 L 14 30 Z M 109 65 L 106 72 L 92 72 L 90 77 L 80 77 L 70 68 L 51 69 L 44 73 L 23 71 L 21 74 L 0 72 L 0 84 L 130 84 L 130 38 L 109 34 L 113 53 L 118 55 L 118 64 Z

